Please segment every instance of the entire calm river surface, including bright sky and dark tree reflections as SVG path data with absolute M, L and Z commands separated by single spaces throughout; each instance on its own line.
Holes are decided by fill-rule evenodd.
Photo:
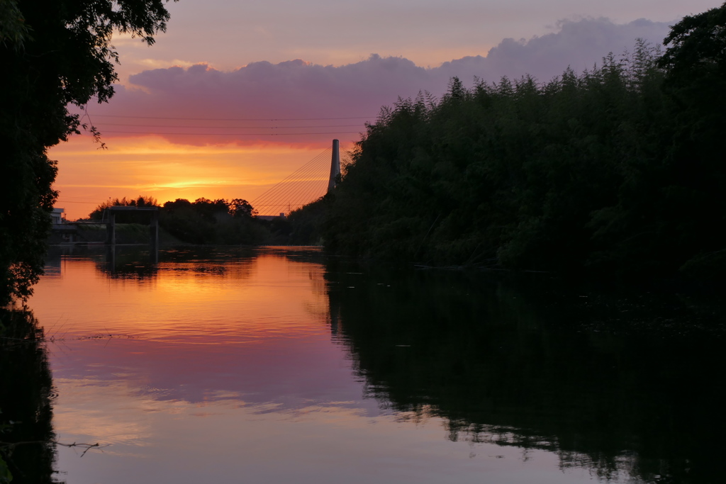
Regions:
M 55 250 L 55 468 L 97 483 L 723 482 L 722 308 L 295 248 Z M 717 300 L 718 301 L 718 300 Z

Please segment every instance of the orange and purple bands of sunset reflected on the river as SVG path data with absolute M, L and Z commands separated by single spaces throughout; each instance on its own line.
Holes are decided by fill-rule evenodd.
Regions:
M 125 250 L 51 258 L 30 304 L 55 338 L 57 381 L 123 380 L 155 399 L 190 402 L 220 391 L 293 406 L 321 395 L 351 400 L 349 389 L 344 398 L 333 390 L 350 370 L 344 349 L 330 344 L 319 264 L 280 250 L 187 247 L 163 251 L 139 276 L 129 268 L 149 269 L 148 257 Z

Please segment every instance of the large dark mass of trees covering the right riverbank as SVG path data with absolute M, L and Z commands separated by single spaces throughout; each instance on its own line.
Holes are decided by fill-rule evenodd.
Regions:
M 726 266 L 726 4 L 659 49 L 539 83 L 457 78 L 367 126 L 330 250 L 439 265 L 697 276 Z

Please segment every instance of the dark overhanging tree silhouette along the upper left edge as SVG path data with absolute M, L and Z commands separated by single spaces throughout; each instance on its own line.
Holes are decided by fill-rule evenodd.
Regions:
M 113 96 L 113 31 L 153 44 L 163 0 L 0 1 L 0 305 L 43 271 L 57 173 L 47 149 L 88 128 L 68 110 Z

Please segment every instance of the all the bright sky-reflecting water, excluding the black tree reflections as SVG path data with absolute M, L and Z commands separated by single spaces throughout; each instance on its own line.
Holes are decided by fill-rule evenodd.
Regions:
M 185 247 L 152 264 L 123 247 L 79 251 L 52 255 L 30 300 L 57 337 L 58 440 L 109 445 L 83 459 L 59 448 L 69 483 L 590 478 L 545 451 L 523 467 L 516 448 L 446 440 L 433 412 L 366 398 L 354 351 L 331 332 L 323 266 L 304 253 Z

